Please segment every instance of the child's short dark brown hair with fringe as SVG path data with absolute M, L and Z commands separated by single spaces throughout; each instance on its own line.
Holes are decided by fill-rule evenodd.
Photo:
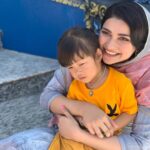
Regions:
M 67 30 L 58 42 L 58 61 L 67 67 L 75 61 L 75 56 L 95 58 L 97 48 L 98 36 L 92 30 L 74 27 Z

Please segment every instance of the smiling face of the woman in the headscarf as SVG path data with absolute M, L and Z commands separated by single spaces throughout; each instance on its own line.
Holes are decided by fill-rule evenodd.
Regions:
M 103 52 L 103 61 L 109 65 L 128 60 L 135 52 L 129 26 L 115 17 L 106 20 L 103 24 L 99 43 Z

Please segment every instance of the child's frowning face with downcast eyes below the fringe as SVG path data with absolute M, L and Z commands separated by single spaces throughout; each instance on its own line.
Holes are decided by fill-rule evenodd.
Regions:
M 67 68 L 74 79 L 89 83 L 101 69 L 101 57 L 94 59 L 92 56 L 85 56 L 84 58 L 76 56 L 73 64 Z

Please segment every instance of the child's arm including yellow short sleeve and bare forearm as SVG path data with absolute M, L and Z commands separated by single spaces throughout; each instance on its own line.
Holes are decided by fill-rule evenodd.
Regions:
M 118 126 L 117 130 L 128 125 L 135 118 L 138 111 L 137 99 L 135 97 L 135 91 L 131 80 L 125 77 L 122 82 L 119 82 L 118 87 L 121 97 L 121 103 L 119 106 L 121 113 L 114 120 Z

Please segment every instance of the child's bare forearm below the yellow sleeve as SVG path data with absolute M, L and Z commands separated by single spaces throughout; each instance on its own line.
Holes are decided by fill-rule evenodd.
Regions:
M 133 119 L 135 118 L 136 114 L 129 115 L 127 113 L 120 114 L 114 121 L 117 124 L 117 130 L 120 130 L 124 128 L 126 125 L 128 125 Z

